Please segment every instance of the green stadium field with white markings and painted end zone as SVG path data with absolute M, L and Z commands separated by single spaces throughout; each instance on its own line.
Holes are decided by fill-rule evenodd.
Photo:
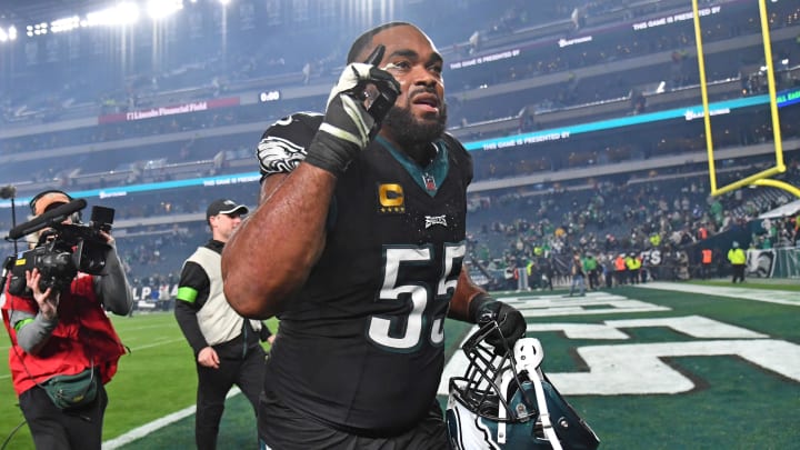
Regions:
M 544 347 L 543 369 L 604 449 L 789 449 L 800 428 L 800 283 L 650 283 L 566 297 L 506 292 Z M 131 353 L 107 386 L 104 449 L 193 447 L 194 369 L 171 313 L 114 318 Z M 270 323 L 277 328 L 277 323 Z M 449 322 L 443 379 L 470 326 Z M 8 352 L 8 340 L 0 347 Z M 443 401 L 446 383 L 440 389 Z M 0 441 L 22 423 L 0 367 Z M 257 448 L 236 392 L 219 448 Z M 22 427 L 8 449 L 32 449 Z

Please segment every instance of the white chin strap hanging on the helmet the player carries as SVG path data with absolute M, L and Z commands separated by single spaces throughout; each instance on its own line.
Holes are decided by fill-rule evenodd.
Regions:
M 539 339 L 534 338 L 522 338 L 514 344 L 513 352 L 517 367 L 528 371 L 528 379 L 530 379 L 533 384 L 533 390 L 537 394 L 537 408 L 539 408 L 539 420 L 541 421 L 544 438 L 547 438 L 550 442 L 553 450 L 562 450 L 561 441 L 559 441 L 558 436 L 556 434 L 556 429 L 552 426 L 552 420 L 550 420 L 550 411 L 547 407 L 547 398 L 544 397 L 544 388 L 542 387 L 543 374 L 540 366 L 544 359 L 544 350 L 541 347 L 541 342 L 539 342 Z M 506 377 L 503 380 L 503 392 L 508 392 L 508 383 L 512 378 L 513 373 L 511 377 Z M 500 411 L 502 411 L 501 414 L 506 413 L 504 408 L 501 408 Z M 503 416 L 500 416 L 500 418 L 504 419 Z M 503 439 L 501 443 L 504 443 L 506 422 L 500 422 L 500 427 L 502 427 Z M 498 441 L 500 441 L 500 427 L 498 427 Z

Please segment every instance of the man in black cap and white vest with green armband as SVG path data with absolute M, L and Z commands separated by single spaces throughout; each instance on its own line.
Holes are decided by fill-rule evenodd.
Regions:
M 264 351 L 259 339 L 269 340 L 267 326 L 247 320 L 231 309 L 222 292 L 220 252 L 248 208 L 233 200 L 209 204 L 206 220 L 211 240 L 183 263 L 174 314 L 197 359 L 198 391 L 194 439 L 198 449 L 217 448 L 219 423 L 228 391 L 238 386 L 258 407 L 263 379 Z

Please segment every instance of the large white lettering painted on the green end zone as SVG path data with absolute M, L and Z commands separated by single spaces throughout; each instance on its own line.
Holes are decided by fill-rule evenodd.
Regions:
M 503 299 L 503 301 L 507 299 Z M 639 300 L 629 300 L 619 296 L 608 296 L 601 292 L 592 292 L 581 298 L 557 298 L 553 296 L 534 296 L 529 299 L 517 298 L 510 301 L 526 317 L 553 317 L 563 314 L 573 314 L 576 310 L 587 314 L 597 311 L 598 304 L 608 304 L 614 302 L 619 308 L 614 308 L 610 312 L 633 312 L 639 309 L 648 309 L 653 307 L 651 303 L 641 302 Z M 583 310 L 583 307 L 593 307 Z M 657 306 L 656 306 L 657 307 Z M 660 308 L 660 307 L 657 307 Z M 668 308 L 661 310 L 669 310 Z M 618 319 L 608 320 L 601 324 L 594 323 L 529 323 L 528 331 L 562 331 L 569 339 L 628 339 L 628 334 L 620 329 L 624 328 L 646 328 L 646 327 L 666 327 L 677 332 L 687 334 L 698 339 L 758 339 L 756 341 L 709 341 L 702 347 L 701 342 L 662 342 L 653 344 L 618 344 L 618 346 L 588 346 L 578 349 L 581 357 L 586 353 L 584 362 L 589 367 L 589 372 L 578 373 L 552 373 L 553 383 L 563 393 L 587 393 L 587 394 L 623 394 L 623 393 L 674 393 L 691 390 L 694 384 L 681 373 L 663 363 L 660 358 L 671 356 L 720 356 L 720 354 L 738 354 L 746 360 L 761 366 L 767 370 L 781 373 L 788 378 L 792 378 L 798 372 L 798 381 L 800 381 L 800 364 L 793 361 L 800 359 L 800 346 L 776 341 L 768 336 L 748 330 L 744 328 L 719 322 L 713 319 L 701 316 L 689 316 L 678 318 L 651 318 L 651 319 Z M 467 337 L 477 330 L 473 327 Z M 737 344 L 729 342 L 739 342 Z M 753 343 L 744 343 L 753 342 Z M 780 342 L 780 343 L 776 343 Z M 463 342 L 462 342 L 463 343 Z M 691 346 L 688 346 L 691 344 Z M 693 346 L 693 347 L 692 347 Z M 700 346 L 700 347 L 698 347 Z M 777 360 L 769 360 L 770 357 L 759 357 L 757 351 L 743 349 L 744 347 L 763 348 L 776 354 L 782 354 Z M 773 349 L 778 347 L 778 349 Z M 674 350 L 669 350 L 673 348 Z M 614 353 L 614 349 L 619 349 Z M 546 349 L 547 350 L 547 349 Z M 673 353 L 674 352 L 674 353 Z M 599 356 L 596 357 L 596 353 Z M 686 354 L 684 354 L 686 353 Z M 746 353 L 746 354 L 744 354 Z M 797 354 L 794 354 L 797 353 Z M 788 358 L 788 359 L 787 359 Z M 761 359 L 768 359 L 767 362 L 760 363 Z M 604 366 L 604 361 L 613 361 L 610 367 Z M 786 361 L 792 367 L 787 368 Z M 462 351 L 457 351 L 447 362 L 442 379 L 439 383 L 439 394 L 449 393 L 449 380 L 451 377 L 459 377 L 464 373 L 468 366 L 467 357 Z M 594 364 L 598 368 L 594 368 Z M 653 373 L 647 373 L 641 368 L 652 368 Z M 608 380 L 604 378 L 608 377 Z M 616 377 L 616 379 L 614 379 Z M 560 381 L 563 379 L 564 381 Z M 557 382 L 557 380 L 559 380 Z M 561 383 L 564 386 L 562 387 Z

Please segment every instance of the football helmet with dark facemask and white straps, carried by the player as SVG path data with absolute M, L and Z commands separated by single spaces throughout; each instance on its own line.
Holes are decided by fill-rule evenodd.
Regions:
M 500 332 L 482 326 L 463 344 L 470 363 L 450 379 L 447 424 L 454 449 L 594 450 L 600 440 L 540 369 L 538 339 L 522 338 L 511 351 L 486 342 Z

